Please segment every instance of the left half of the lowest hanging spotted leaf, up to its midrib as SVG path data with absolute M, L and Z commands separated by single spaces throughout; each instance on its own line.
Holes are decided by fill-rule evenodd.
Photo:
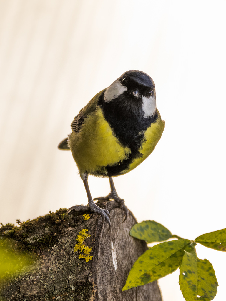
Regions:
M 180 290 L 186 301 L 196 301 L 198 295 L 198 265 L 197 255 L 193 244 L 184 250 L 180 265 L 179 284 Z

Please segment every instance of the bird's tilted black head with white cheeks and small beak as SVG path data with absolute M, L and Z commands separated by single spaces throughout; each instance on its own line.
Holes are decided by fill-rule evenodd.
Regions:
M 104 101 L 132 107 L 145 118 L 152 116 L 156 110 L 155 83 L 142 71 L 126 71 L 106 89 Z

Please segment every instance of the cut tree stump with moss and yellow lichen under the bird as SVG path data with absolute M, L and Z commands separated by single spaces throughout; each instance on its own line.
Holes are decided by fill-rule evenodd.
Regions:
M 157 282 L 121 291 L 133 263 L 147 245 L 129 235 L 137 223 L 131 212 L 122 223 L 124 212 L 117 208 L 118 203 L 109 201 L 99 206 L 111 213 L 110 231 L 101 216 L 89 214 L 90 219 L 85 220 L 84 212 L 66 215 L 66 209 L 11 230 L 3 226 L 2 237 L 11 237 L 22 250 L 30 250 L 39 258 L 32 271 L 2 285 L 5 300 L 161 301 Z M 88 234 L 85 240 L 83 234 Z M 75 245 L 80 249 L 75 251 Z

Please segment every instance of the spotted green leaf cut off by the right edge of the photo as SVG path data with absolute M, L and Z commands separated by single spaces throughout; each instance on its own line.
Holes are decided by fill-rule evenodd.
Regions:
M 205 247 L 226 251 L 226 228 L 218 231 L 202 234 L 195 239 L 196 243 L 202 244 Z

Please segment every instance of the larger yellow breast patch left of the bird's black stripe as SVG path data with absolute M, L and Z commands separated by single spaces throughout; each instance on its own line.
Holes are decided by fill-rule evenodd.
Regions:
M 87 116 L 80 132 L 71 133 L 70 147 L 81 174 L 107 175 L 104 166 L 120 163 L 130 154 L 129 147 L 119 144 L 100 107 Z

